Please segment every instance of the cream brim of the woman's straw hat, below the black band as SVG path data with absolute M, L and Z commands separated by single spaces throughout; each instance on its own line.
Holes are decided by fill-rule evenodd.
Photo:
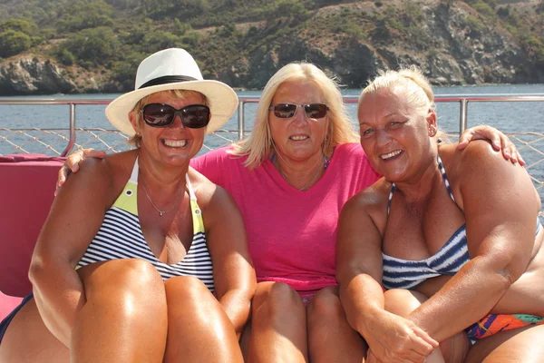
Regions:
M 153 85 L 131 91 L 117 97 L 106 107 L 106 117 L 117 130 L 129 136 L 136 132 L 129 120 L 129 113 L 143 97 L 160 91 L 187 90 L 206 96 L 211 117 L 206 133 L 212 133 L 228 122 L 238 107 L 238 95 L 226 83 L 219 81 L 186 81 Z

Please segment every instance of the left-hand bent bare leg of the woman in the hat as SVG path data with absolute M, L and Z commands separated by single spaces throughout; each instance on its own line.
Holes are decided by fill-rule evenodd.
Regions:
M 87 302 L 73 330 L 73 361 L 162 361 L 166 342 L 164 284 L 151 264 L 112 260 L 78 270 Z M 130 308 L 130 309 L 126 309 Z M 0 362 L 69 362 L 30 300 L 9 325 Z

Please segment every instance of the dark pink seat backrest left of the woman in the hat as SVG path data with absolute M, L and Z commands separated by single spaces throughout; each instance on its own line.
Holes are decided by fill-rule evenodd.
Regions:
M 0 157 L 0 290 L 7 295 L 32 290 L 28 266 L 63 162 L 42 154 Z

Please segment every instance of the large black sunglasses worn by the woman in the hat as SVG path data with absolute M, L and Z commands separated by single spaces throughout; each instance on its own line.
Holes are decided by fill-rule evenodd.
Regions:
M 204 104 L 190 104 L 176 110 L 169 104 L 150 103 L 141 109 L 143 121 L 152 127 L 168 127 L 179 114 L 183 126 L 199 129 L 209 123 L 209 107 Z

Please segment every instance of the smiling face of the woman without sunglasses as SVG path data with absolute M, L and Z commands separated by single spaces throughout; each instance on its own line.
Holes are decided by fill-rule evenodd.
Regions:
M 413 107 L 404 94 L 403 86 L 365 94 L 357 113 L 364 152 L 391 182 L 420 172 L 435 148 L 435 113 Z

